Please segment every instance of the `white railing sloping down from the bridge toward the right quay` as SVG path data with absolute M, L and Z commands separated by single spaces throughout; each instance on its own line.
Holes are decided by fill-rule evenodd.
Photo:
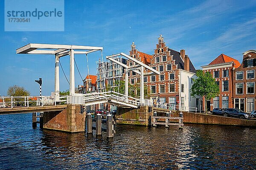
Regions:
M 162 102 L 153 102 L 153 107 L 154 108 L 162 108 L 162 109 L 168 109 L 168 110 L 173 110 L 173 111 L 186 111 L 186 112 L 195 112 L 197 113 L 196 107 L 190 107 L 190 106 L 179 106 L 179 105 L 174 105 L 170 103 L 162 103 Z

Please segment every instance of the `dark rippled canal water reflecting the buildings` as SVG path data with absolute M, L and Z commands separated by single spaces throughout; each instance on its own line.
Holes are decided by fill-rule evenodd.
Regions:
M 38 125 L 39 127 L 39 125 Z M 116 125 L 113 139 L 32 129 L 32 114 L 0 115 L 0 169 L 256 169 L 256 129 Z

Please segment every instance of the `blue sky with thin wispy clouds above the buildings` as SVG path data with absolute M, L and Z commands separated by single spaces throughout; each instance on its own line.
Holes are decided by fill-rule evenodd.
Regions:
M 43 80 L 42 94 L 54 91 L 53 55 L 16 54 L 28 43 L 103 47 L 103 56 L 124 52 L 131 43 L 153 54 L 162 34 L 169 48 L 185 49 L 195 68 L 207 65 L 221 53 L 242 60 L 256 49 L 256 0 L 65 0 L 64 31 L 4 31 L 4 1 L 0 0 L 0 95 L 12 85 L 39 95 L 35 79 Z M 100 52 L 88 54 L 90 74 L 96 75 Z M 82 78 L 84 55 L 75 55 Z M 69 78 L 69 57 L 60 59 Z M 76 87 L 82 84 L 75 69 Z M 69 84 L 60 68 L 60 90 Z

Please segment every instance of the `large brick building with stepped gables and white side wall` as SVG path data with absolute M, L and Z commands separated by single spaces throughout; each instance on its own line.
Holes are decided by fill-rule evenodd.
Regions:
M 160 71 L 160 75 L 144 76 L 148 94 L 153 100 L 159 97 L 160 102 L 179 105 L 181 110 L 188 106 L 196 107 L 196 99 L 190 96 L 189 92 L 192 86 L 192 78 L 195 78 L 195 67 L 185 54 L 185 50 L 180 50 L 180 52 L 172 50 L 166 46 L 163 40 L 164 38 L 160 35 L 153 55 L 138 51 L 134 43 L 131 45 L 131 57 Z M 128 60 L 127 64 L 133 65 L 134 63 Z M 129 75 L 128 78 L 131 84 L 140 81 L 139 75 L 135 73 L 132 73 L 132 75 L 129 73 Z M 199 102 L 199 99 L 197 101 Z

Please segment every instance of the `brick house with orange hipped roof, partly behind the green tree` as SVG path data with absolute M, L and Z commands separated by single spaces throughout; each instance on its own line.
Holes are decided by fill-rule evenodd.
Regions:
M 220 95 L 207 100 L 203 99 L 203 109 L 212 111 L 214 108 L 232 108 L 233 107 L 233 69 L 238 68 L 240 62 L 225 54 L 219 55 L 208 65 L 201 66 L 204 73 L 209 72 L 219 85 Z

